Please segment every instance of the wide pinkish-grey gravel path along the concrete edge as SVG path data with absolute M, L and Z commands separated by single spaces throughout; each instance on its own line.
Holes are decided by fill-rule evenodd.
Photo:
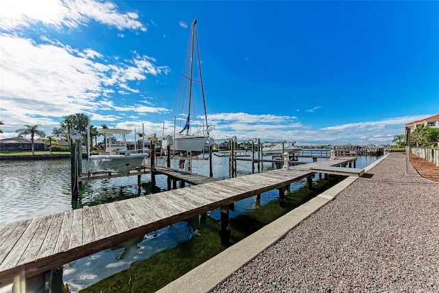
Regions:
M 439 183 L 391 153 L 213 292 L 439 292 Z

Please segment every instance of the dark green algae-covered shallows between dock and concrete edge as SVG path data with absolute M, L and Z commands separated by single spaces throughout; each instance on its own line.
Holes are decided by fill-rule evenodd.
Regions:
M 221 253 L 228 246 L 258 231 L 343 179 L 341 176 L 330 176 L 327 181 L 313 182 L 311 191 L 304 186 L 296 191 L 287 192 L 285 202 L 274 199 L 258 206 L 256 201 L 255 209 L 230 219 L 230 242 L 227 245 L 222 244 L 219 238 L 217 220 L 209 216 L 205 220 L 192 218 L 187 222 L 194 228 L 195 235 L 189 241 L 156 253 L 149 259 L 134 262 L 128 270 L 113 274 L 80 292 L 156 292 Z

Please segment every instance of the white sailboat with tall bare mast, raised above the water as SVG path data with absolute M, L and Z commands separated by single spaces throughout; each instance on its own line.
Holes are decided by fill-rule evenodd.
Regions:
M 176 133 L 174 130 L 174 135 L 168 135 L 167 137 L 163 137 L 162 148 L 163 150 L 167 150 L 167 146 L 169 145 L 171 149 L 171 153 L 173 154 L 184 154 L 190 156 L 198 156 L 204 148 L 206 141 L 209 139 L 209 125 L 207 124 L 207 115 L 206 115 L 206 103 L 204 99 L 204 88 L 202 82 L 202 74 L 201 74 L 201 62 L 200 62 L 200 52 L 198 51 L 198 38 L 196 31 L 197 20 L 195 19 L 192 23 L 191 30 L 191 38 L 189 42 L 188 55 L 189 55 L 189 65 L 188 71 L 189 74 L 182 74 L 182 80 L 185 83 L 185 89 L 189 92 L 187 98 L 187 118 L 185 126 L 180 130 L 180 132 Z M 196 53 L 196 54 L 195 54 Z M 196 58 L 196 63 L 194 64 L 193 60 Z M 194 69 L 195 65 L 198 65 L 198 73 L 200 80 L 194 79 Z M 189 82 L 189 85 L 187 83 Z M 193 110 L 195 103 L 194 101 L 194 91 L 193 86 L 194 83 L 200 84 L 201 95 L 204 106 L 204 118 L 206 121 L 206 125 L 202 128 L 198 129 L 198 132 L 195 133 L 191 128 L 191 110 Z M 203 123 L 204 124 L 204 123 Z M 190 152 L 190 154 L 189 154 Z

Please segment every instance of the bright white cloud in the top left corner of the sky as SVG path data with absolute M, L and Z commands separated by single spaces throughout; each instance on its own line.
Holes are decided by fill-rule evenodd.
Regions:
M 112 2 L 94 0 L 3 0 L 0 1 L 0 28 L 12 31 L 41 22 L 47 27 L 80 27 L 97 21 L 117 30 L 141 30 L 146 27 L 135 12 L 118 11 Z

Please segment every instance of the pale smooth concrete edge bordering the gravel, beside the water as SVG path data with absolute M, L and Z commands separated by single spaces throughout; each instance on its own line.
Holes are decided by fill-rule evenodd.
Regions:
M 368 172 L 372 167 L 375 167 L 383 159 L 387 158 L 389 154 L 383 156 L 381 159 L 368 165 L 365 169 Z M 193 270 L 182 275 L 182 277 L 172 281 L 165 287 L 158 290 L 158 293 L 168 292 L 209 292 L 215 288 L 219 283 L 222 283 L 233 272 L 239 270 L 241 266 L 252 261 L 263 250 L 278 242 L 279 239 L 296 227 L 302 220 L 305 220 L 310 215 L 324 207 L 328 202 L 333 200 L 337 194 L 343 189 L 351 185 L 357 180 L 357 176 L 348 176 L 342 182 L 334 185 L 330 189 L 312 198 L 308 202 L 293 209 L 281 218 L 264 226 L 252 235 L 242 239 L 237 244 L 230 246 L 215 257 L 200 264 L 200 266 L 193 268 Z

